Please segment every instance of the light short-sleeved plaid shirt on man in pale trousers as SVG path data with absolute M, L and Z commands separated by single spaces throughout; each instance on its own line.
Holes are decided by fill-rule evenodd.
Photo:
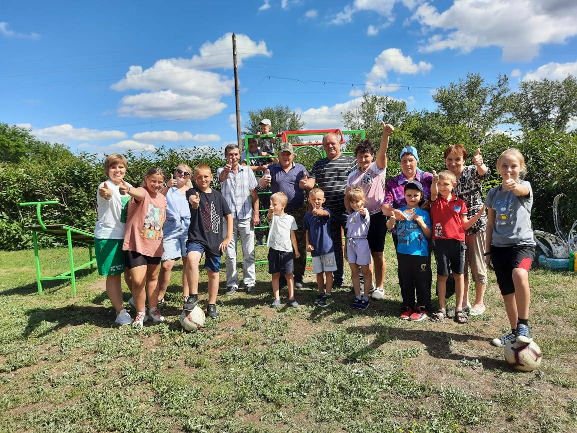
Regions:
M 220 173 L 224 167 L 216 170 L 216 176 L 220 178 Z M 230 207 L 233 219 L 245 219 L 252 216 L 253 204 L 250 191 L 257 187 L 256 177 L 249 166 L 239 165 L 238 172 L 231 171 L 224 182 L 220 182 L 220 192 L 224 201 Z

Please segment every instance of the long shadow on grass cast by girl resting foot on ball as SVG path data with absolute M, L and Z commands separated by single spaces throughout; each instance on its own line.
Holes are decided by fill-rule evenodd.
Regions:
M 383 344 L 392 340 L 418 341 L 426 346 L 426 351 L 434 358 L 452 361 L 462 361 L 463 359 L 473 361 L 476 359 L 481 362 L 483 368 L 486 370 L 508 371 L 508 367 L 503 360 L 485 356 L 466 356 L 462 353 L 452 352 L 451 342 L 453 341 L 467 342 L 475 340 L 489 344 L 485 337 L 479 337 L 478 335 L 455 334 L 446 331 L 429 331 L 423 329 L 403 329 L 380 325 L 351 326 L 347 328 L 347 331 L 360 333 L 361 335 L 377 334 L 371 344 L 354 353 L 353 356 L 350 356 L 352 359 L 358 359 L 373 350 L 377 350 Z

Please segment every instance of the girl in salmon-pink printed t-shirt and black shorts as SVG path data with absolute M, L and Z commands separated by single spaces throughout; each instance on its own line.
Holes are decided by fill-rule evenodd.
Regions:
M 164 171 L 153 167 L 138 188 L 121 185 L 132 197 L 128 204 L 128 218 L 122 249 L 125 266 L 130 270 L 132 297 L 136 306 L 134 327 L 142 327 L 148 320 L 144 304 L 148 296 L 150 315 L 154 323 L 164 322 L 158 309 L 158 273 L 162 257 L 162 226 L 166 219 L 166 198 L 159 192 L 164 185 Z M 144 288 L 146 287 L 146 291 Z

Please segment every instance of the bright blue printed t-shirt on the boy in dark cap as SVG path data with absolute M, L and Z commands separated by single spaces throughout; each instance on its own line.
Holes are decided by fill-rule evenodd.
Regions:
M 403 206 L 400 211 L 407 217 L 406 221 L 397 221 L 396 232 L 398 237 L 397 252 L 413 256 L 428 256 L 429 242 L 421 227 L 414 221 L 414 217 L 421 215 L 429 229 L 433 226 L 429 212 L 421 208 L 409 208 Z

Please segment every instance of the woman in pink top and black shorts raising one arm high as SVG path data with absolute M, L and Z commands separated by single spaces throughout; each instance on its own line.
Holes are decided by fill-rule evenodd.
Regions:
M 374 158 L 375 150 L 370 140 L 363 140 L 355 148 L 358 169 L 349 174 L 347 178 L 347 189 L 344 194 L 344 206 L 347 212 L 351 213 L 351 206 L 347 200 L 347 195 L 353 186 L 360 186 L 365 192 L 365 207 L 369 211 L 371 223 L 367 239 L 369 241 L 370 253 L 374 263 L 374 288 L 371 290 L 373 298 L 382 299 L 385 295 L 383 283 L 387 263 L 383 256 L 385 247 L 385 236 L 387 234 L 386 218 L 381 211 L 381 204 L 385 199 L 385 175 L 387 174 L 387 148 L 389 147 L 389 136 L 394 132 L 392 125 L 383 125 L 383 136 L 377 158 Z

